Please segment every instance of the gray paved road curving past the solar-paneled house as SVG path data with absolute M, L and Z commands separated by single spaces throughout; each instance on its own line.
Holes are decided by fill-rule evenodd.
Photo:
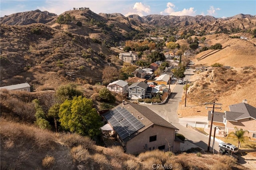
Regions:
M 188 71 L 186 71 L 186 73 L 189 73 L 185 77 L 186 79 L 188 79 L 188 81 L 191 76 L 190 75 L 191 71 L 192 69 L 189 69 Z M 179 129 L 177 132 L 180 134 L 183 134 L 186 137 L 186 140 L 188 142 L 191 142 L 192 144 L 195 144 L 196 146 L 199 146 L 200 148 L 207 150 L 208 136 L 196 130 L 193 130 L 192 128 L 185 127 L 181 125 L 179 122 L 177 110 L 183 94 L 183 87 L 184 85 L 175 85 L 172 89 L 172 94 L 167 103 L 163 105 L 147 105 L 147 107 L 149 107 L 158 115 L 166 119 L 166 121 L 172 123 L 172 125 L 177 127 Z M 211 145 L 212 145 L 212 142 L 210 146 Z M 210 147 L 210 150 L 212 150 L 212 147 Z M 214 142 L 214 150 L 215 150 L 214 152 L 218 152 L 218 141 Z

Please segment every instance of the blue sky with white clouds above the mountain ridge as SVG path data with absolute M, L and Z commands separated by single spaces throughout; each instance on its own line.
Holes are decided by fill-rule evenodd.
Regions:
M 62 14 L 76 7 L 89 7 L 98 13 L 121 13 L 124 16 L 150 14 L 226 18 L 236 14 L 256 15 L 256 0 L 0 0 L 0 17 L 39 9 Z

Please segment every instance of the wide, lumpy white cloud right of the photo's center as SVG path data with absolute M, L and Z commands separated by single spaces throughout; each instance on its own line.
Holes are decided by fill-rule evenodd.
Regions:
M 196 15 L 196 10 L 194 10 L 193 7 L 190 7 L 188 9 L 184 8 L 181 11 L 175 11 L 175 5 L 172 4 L 171 2 L 168 2 L 166 4 L 166 9 L 163 12 L 160 12 L 160 14 L 168 14 L 168 15 L 174 15 L 174 16 L 195 16 Z

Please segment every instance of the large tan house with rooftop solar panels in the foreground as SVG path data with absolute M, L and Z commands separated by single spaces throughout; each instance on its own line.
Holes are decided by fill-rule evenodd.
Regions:
M 175 138 L 178 128 L 146 106 L 123 101 L 102 116 L 114 129 L 116 140 L 128 154 L 154 149 L 180 150 L 181 141 Z

